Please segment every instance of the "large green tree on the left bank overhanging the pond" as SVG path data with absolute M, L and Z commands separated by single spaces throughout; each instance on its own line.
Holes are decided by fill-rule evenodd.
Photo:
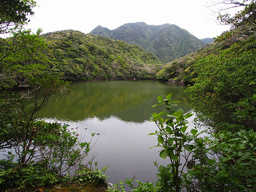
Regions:
M 51 75 L 44 39 L 30 31 L 0 41 L 1 148 L 22 144 L 17 153 L 24 166 L 35 137 L 34 115 L 47 101 L 69 91 L 69 82 Z M 18 142 L 17 142 L 18 141 Z

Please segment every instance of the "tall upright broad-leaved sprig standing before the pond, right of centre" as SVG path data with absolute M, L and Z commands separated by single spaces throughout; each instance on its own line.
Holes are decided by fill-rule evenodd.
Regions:
M 148 135 L 157 136 L 158 144 L 151 148 L 161 147 L 160 157 L 163 159 L 169 157 L 171 161 L 171 163 L 167 165 L 171 176 L 169 183 L 165 182 L 162 183 L 162 185 L 160 183 L 161 190 L 180 192 L 183 185 L 183 169 L 189 161 L 191 154 L 198 148 L 197 141 L 200 140 L 198 135 L 204 131 L 200 133 L 198 133 L 196 129 L 191 129 L 190 132 L 187 131 L 187 119 L 193 114 L 192 112 L 184 114 L 183 109 L 178 109 L 177 111 L 172 110 L 172 106 L 176 105 L 175 103 L 179 101 L 172 101 L 171 97 L 171 93 L 166 96 L 166 99 L 163 99 L 163 96 L 157 97 L 159 104 L 153 105 L 152 108 L 164 105 L 167 112 L 162 111 L 158 114 L 151 114 L 149 120 L 156 123 L 158 130 Z M 166 115 L 167 118 L 163 119 L 163 115 Z

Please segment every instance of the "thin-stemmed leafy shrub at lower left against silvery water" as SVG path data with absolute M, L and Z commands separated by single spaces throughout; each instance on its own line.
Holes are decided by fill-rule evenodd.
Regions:
M 36 147 L 33 146 L 33 150 L 40 153 L 38 157 L 33 156 L 34 160 L 37 160 L 37 163 L 42 164 L 46 169 L 57 172 L 59 178 L 65 172 L 72 175 L 72 168 L 78 166 L 90 151 L 91 142 L 82 143 L 79 140 L 79 134 L 75 131 L 70 132 L 67 127 L 67 125 L 63 125 L 57 130 L 41 132 L 33 140 L 33 143 L 36 144 Z

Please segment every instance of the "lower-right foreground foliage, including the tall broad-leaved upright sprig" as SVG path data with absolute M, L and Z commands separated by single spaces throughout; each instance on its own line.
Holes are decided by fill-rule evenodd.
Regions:
M 136 192 L 230 192 L 256 190 L 256 134 L 254 131 L 241 130 L 237 133 L 220 131 L 212 133 L 212 137 L 200 138 L 197 129 L 186 131 L 186 119 L 191 113 L 183 115 L 183 110 L 171 110 L 171 94 L 163 99 L 158 96 L 158 104 L 164 105 L 166 111 L 152 113 L 150 119 L 156 122 L 156 135 L 161 147 L 160 157 L 169 157 L 171 163 L 162 166 L 154 162 L 158 168 L 159 179 L 153 183 L 139 183 L 135 186 L 134 179 L 120 181 L 108 192 L 125 192 L 124 184 L 128 184 Z M 161 116 L 166 114 L 167 119 Z M 183 157 L 183 164 L 180 158 Z M 183 173 L 186 166 L 187 173 Z

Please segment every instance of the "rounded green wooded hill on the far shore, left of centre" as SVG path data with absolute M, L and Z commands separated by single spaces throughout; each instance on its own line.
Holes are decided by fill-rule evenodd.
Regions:
M 74 30 L 42 35 L 52 73 L 71 81 L 154 78 L 160 61 L 138 45 Z

